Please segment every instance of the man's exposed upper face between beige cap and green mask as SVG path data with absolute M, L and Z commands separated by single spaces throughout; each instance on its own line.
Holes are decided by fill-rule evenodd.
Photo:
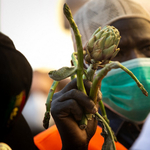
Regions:
M 121 35 L 120 51 L 113 61 L 150 57 L 150 22 L 144 19 L 122 19 L 112 24 Z

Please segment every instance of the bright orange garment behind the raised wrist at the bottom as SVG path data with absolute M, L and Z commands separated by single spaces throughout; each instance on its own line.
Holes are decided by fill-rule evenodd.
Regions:
M 101 150 L 104 138 L 100 135 L 102 129 L 97 126 L 96 133 L 89 143 L 88 150 Z M 40 150 L 61 150 L 62 143 L 57 127 L 53 125 L 49 129 L 34 137 L 34 143 Z M 117 150 L 127 150 L 119 142 L 115 142 Z

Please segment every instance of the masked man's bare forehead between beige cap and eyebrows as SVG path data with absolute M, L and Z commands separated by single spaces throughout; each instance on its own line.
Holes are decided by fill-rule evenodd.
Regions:
M 112 24 L 121 35 L 120 44 L 124 41 L 134 39 L 137 42 L 143 39 L 150 40 L 150 22 L 142 18 L 121 19 Z

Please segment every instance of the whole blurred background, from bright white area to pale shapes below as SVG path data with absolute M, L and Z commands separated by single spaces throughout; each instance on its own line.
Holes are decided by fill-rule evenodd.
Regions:
M 0 0 L 0 31 L 9 36 L 16 49 L 33 68 L 33 82 L 23 110 L 33 135 L 44 130 L 45 102 L 52 84 L 48 72 L 70 66 L 73 44 L 63 14 L 66 2 L 72 13 L 88 0 Z M 135 0 L 150 13 L 150 0 Z M 66 84 L 59 85 L 57 91 Z M 50 125 L 54 121 L 51 120 Z

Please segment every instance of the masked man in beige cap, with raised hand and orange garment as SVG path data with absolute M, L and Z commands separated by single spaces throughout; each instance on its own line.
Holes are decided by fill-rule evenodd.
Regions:
M 131 0 L 90 0 L 77 11 L 74 20 L 82 35 L 83 47 L 98 27 L 116 27 L 120 31 L 121 41 L 118 46 L 120 52 L 113 61 L 121 62 L 131 70 L 150 93 L 150 16 L 141 5 Z M 74 35 L 73 42 L 75 43 Z M 75 44 L 74 49 L 76 51 Z M 86 63 L 85 67 L 88 67 Z M 92 113 L 95 107 L 93 104 L 90 107 L 88 104 L 80 104 L 79 99 L 84 102 L 89 98 L 75 90 L 75 85 L 76 82 L 72 81 L 54 95 L 52 115 L 58 130 L 53 126 L 37 135 L 34 138 L 37 147 L 53 147 L 56 144 L 53 139 L 58 139 L 58 149 L 101 148 L 102 138 L 95 137 L 99 129 L 98 126 L 96 129 L 96 121 L 92 120 L 90 128 L 84 131 L 77 126 L 82 116 L 82 108 L 87 106 Z M 88 89 L 90 85 L 86 84 L 86 87 Z M 145 97 L 135 81 L 121 69 L 114 69 L 108 73 L 102 81 L 101 92 L 110 126 L 118 141 L 129 149 L 139 136 L 150 111 L 149 97 Z M 89 99 L 84 103 L 91 101 Z M 95 147 L 92 147 L 92 144 Z

